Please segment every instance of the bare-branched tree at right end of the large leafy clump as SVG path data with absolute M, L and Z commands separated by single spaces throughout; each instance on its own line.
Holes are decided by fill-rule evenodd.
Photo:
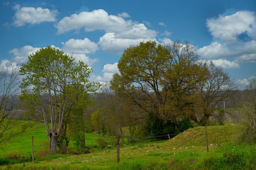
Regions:
M 221 67 L 214 65 L 212 61 L 205 62 L 204 65 L 207 68 L 207 79 L 200 83 L 201 104 L 199 105 L 202 111 L 199 111 L 198 114 L 202 125 L 207 124 L 210 116 L 216 116 L 213 113 L 214 110 L 218 110 L 220 113 L 217 117 L 223 118 L 225 111 L 218 108 L 217 105 L 219 102 L 229 100 L 234 90 L 237 89 L 235 82 Z

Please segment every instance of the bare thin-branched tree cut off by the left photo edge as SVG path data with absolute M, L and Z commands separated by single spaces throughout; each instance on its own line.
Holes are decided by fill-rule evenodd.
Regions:
M 0 144 L 11 142 L 21 135 L 29 123 L 18 121 L 18 67 L 14 63 L 0 70 Z

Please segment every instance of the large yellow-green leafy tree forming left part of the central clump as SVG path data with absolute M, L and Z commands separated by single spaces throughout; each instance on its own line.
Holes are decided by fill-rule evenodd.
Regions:
M 161 91 L 164 78 L 164 63 L 171 62 L 170 52 L 155 41 L 141 42 L 126 49 L 119 60 L 120 74 L 114 74 L 111 88 L 117 94 L 127 97 L 146 112 L 165 103 L 166 96 Z M 136 95 L 137 89 L 143 95 Z M 154 93 L 154 96 L 152 95 Z

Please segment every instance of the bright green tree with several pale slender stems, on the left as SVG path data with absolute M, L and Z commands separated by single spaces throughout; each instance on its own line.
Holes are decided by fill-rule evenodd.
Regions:
M 51 46 L 31 54 L 20 68 L 20 75 L 25 76 L 20 99 L 32 113 L 42 115 L 51 153 L 56 153 L 64 119 L 76 106 L 79 94 L 94 93 L 99 88 L 99 83 L 89 82 L 91 72 L 82 61 L 76 62 L 74 57 Z M 74 90 L 76 87 L 79 90 Z

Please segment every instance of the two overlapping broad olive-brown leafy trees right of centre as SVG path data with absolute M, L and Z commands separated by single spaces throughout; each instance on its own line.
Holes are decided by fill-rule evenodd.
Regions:
M 111 88 L 128 98 L 139 112 L 159 116 L 165 122 L 191 117 L 195 89 L 205 80 L 206 68 L 198 64 L 196 49 L 188 41 L 162 46 L 141 42 L 126 49 L 119 60 Z

